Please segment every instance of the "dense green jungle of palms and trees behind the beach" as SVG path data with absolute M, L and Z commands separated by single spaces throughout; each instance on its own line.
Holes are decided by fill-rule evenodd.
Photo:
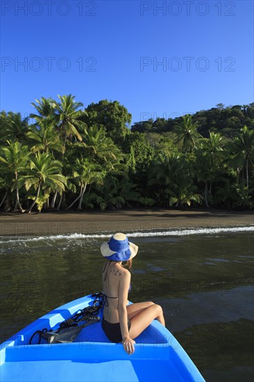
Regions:
M 0 208 L 251 209 L 254 103 L 135 122 L 118 101 L 71 94 L 1 111 Z

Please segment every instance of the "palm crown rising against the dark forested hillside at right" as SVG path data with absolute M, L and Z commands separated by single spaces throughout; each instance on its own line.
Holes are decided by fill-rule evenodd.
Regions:
M 196 140 L 201 138 L 201 135 L 197 132 L 198 124 L 192 122 L 192 115 L 184 115 L 183 122 L 178 124 L 178 131 L 176 131 L 176 143 L 182 144 L 183 152 L 192 152 L 196 147 Z

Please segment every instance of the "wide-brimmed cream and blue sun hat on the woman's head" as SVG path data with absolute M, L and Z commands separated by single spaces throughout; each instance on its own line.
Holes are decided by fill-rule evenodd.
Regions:
M 137 255 L 137 245 L 128 241 L 124 233 L 115 233 L 109 242 L 101 244 L 101 254 L 105 259 L 127 261 Z

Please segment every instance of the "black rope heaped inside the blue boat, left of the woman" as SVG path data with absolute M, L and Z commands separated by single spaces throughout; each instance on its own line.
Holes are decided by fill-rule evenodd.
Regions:
M 44 333 L 50 333 L 52 332 L 52 335 L 57 334 L 58 331 L 61 329 L 71 328 L 73 326 L 78 326 L 78 322 L 85 321 L 85 322 L 99 322 L 99 317 L 96 317 L 96 315 L 99 314 L 99 310 L 101 309 L 101 306 L 104 302 L 104 295 L 102 292 L 97 292 L 91 295 L 94 297 L 93 305 L 92 306 L 86 306 L 83 309 L 78 310 L 74 315 L 71 317 L 65 319 L 65 321 L 60 322 L 59 328 L 56 329 L 56 331 L 53 331 L 52 329 L 42 329 L 41 331 L 35 331 L 33 335 L 31 336 L 29 340 L 29 344 L 32 344 L 32 340 L 35 337 L 36 334 L 39 335 L 39 341 L 37 344 L 40 344 L 43 334 Z M 46 338 L 46 337 L 45 337 Z

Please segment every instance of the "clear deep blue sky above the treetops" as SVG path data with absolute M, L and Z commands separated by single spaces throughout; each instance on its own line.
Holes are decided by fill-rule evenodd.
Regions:
M 132 123 L 251 103 L 253 1 L 2 0 L 1 56 L 1 110 L 24 116 L 70 93 Z

